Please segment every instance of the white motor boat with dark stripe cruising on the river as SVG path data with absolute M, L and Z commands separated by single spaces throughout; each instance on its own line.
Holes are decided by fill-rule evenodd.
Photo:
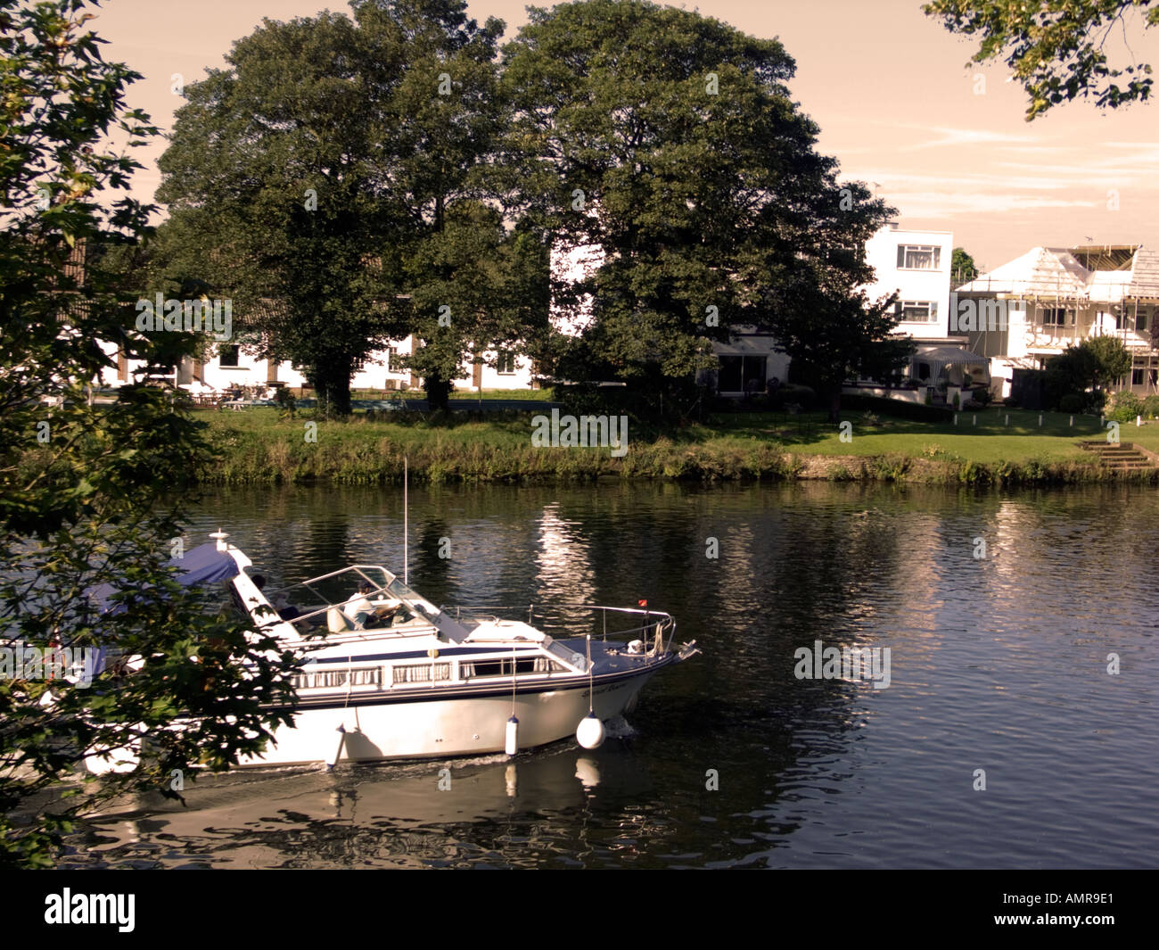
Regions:
M 571 734 L 593 747 L 600 724 L 630 711 L 653 674 L 699 652 L 673 645 L 676 621 L 664 612 L 564 605 L 554 611 L 560 622 L 591 632 L 557 639 L 532 625 L 534 609 L 527 622 L 444 610 L 378 565 L 263 590 L 228 536 L 211 537 L 216 549 L 196 551 L 217 560 L 217 576 L 233 572 L 255 631 L 308 655 L 294 681 L 293 726 L 242 766 L 512 753 Z M 352 597 L 333 593 L 359 587 Z

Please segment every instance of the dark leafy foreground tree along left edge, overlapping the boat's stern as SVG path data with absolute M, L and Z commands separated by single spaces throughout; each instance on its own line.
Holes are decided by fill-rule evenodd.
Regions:
M 195 763 L 258 750 L 287 720 L 262 704 L 293 695 L 290 658 L 204 614 L 165 566 L 207 461 L 197 423 L 161 389 L 86 398 L 112 364 L 102 341 L 146 362 L 194 341 L 136 333 L 110 267 L 148 209 L 117 196 L 138 166 L 109 137 L 155 130 L 126 109 L 139 77 L 102 60 L 83 9 L 0 0 L 0 865 L 50 862 L 100 797 L 173 792 L 175 770 L 188 779 Z M 102 612 L 88 593 L 104 583 L 118 593 Z M 86 648 L 134 657 L 134 672 L 89 682 L 92 667 L 61 676 L 38 662 Z M 86 755 L 143 733 L 155 757 L 102 789 L 50 795 Z

